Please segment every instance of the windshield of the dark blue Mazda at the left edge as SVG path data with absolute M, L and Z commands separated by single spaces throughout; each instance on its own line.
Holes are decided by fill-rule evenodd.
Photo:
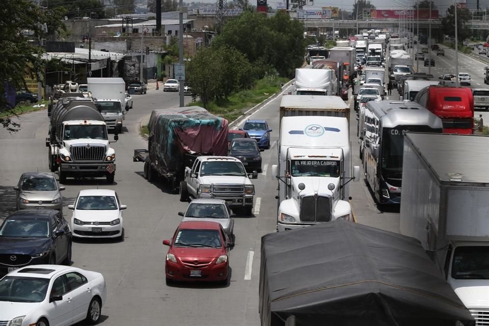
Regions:
M 49 222 L 36 219 L 7 219 L 0 228 L 0 236 L 47 238 Z

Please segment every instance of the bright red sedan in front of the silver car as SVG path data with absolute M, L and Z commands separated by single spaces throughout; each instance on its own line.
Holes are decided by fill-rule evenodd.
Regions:
M 228 283 L 229 241 L 221 224 L 205 221 L 180 223 L 169 246 L 165 263 L 167 284 L 172 281 Z

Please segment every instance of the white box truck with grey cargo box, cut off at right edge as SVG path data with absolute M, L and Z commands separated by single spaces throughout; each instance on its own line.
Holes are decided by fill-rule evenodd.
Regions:
M 477 325 L 489 316 L 487 137 L 406 133 L 400 231 L 421 241 Z

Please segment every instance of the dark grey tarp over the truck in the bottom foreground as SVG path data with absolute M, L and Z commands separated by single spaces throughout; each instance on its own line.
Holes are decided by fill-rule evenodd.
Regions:
M 418 240 L 337 220 L 261 240 L 262 326 L 474 325 Z

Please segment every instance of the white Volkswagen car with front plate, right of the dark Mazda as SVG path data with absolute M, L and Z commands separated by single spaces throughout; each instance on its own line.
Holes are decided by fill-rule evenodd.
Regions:
M 79 192 L 73 205 L 71 232 L 80 238 L 120 238 L 122 229 L 122 210 L 119 196 L 112 189 L 86 189 Z

